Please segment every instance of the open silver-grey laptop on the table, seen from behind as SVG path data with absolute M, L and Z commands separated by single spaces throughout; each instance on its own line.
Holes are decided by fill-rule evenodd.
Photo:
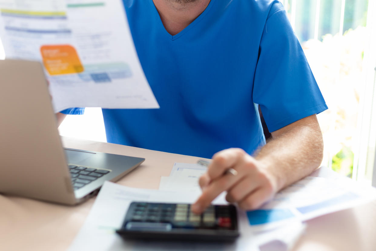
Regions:
M 75 205 L 145 159 L 62 147 L 39 62 L 0 60 L 0 193 Z

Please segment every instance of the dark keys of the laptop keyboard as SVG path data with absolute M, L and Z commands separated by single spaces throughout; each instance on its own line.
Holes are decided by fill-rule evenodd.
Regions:
M 74 190 L 82 188 L 94 180 L 109 173 L 109 170 L 96 169 L 84 166 L 69 165 Z

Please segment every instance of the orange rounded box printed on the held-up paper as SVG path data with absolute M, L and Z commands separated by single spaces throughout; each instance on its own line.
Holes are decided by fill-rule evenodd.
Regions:
M 45 45 L 41 47 L 43 64 L 50 75 L 80 73 L 83 65 L 70 45 Z

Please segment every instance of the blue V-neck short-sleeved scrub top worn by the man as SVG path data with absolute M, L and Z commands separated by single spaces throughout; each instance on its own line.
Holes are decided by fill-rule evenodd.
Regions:
M 273 132 L 327 109 L 282 4 L 211 0 L 177 35 L 152 0 L 124 0 L 139 60 L 160 109 L 103 109 L 108 142 L 211 158 L 265 144 Z M 82 113 L 82 109 L 64 113 Z

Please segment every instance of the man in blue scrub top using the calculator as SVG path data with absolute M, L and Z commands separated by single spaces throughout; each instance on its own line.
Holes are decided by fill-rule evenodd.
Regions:
M 217 152 L 200 178 L 194 212 L 223 191 L 244 210 L 258 208 L 320 165 L 315 114 L 327 106 L 278 1 L 124 0 L 124 6 L 161 108 L 103 109 L 107 139 L 206 158 Z M 273 136 L 266 145 L 258 106 Z M 237 175 L 224 175 L 229 168 Z

